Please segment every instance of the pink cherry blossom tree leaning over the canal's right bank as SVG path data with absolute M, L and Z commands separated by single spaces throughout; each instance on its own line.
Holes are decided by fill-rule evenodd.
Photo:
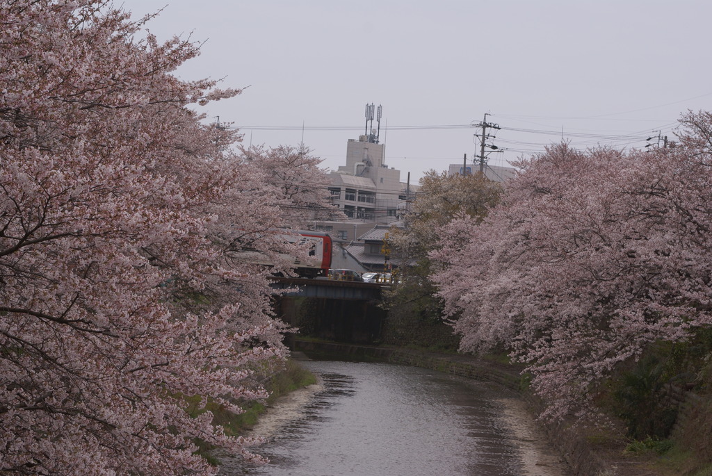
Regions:
M 512 349 L 548 416 L 591 410 L 619 364 L 712 323 L 712 115 L 682 125 L 651 153 L 548 148 L 433 254 L 461 349 Z

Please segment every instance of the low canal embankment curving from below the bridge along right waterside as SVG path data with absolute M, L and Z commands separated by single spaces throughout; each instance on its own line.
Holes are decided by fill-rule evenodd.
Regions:
M 291 346 L 295 351 L 318 359 L 384 361 L 486 381 L 503 390 L 518 393 L 526 404 L 532 421 L 535 421 L 535 415 L 540 413 L 544 406 L 537 396 L 528 391 L 521 366 L 462 354 L 441 354 L 396 347 L 302 339 L 294 339 Z M 649 467 L 644 458 L 624 455 L 624 438 L 602 430 L 595 422 L 575 424 L 571 421 L 536 421 L 536 424 L 574 476 L 660 476 Z

